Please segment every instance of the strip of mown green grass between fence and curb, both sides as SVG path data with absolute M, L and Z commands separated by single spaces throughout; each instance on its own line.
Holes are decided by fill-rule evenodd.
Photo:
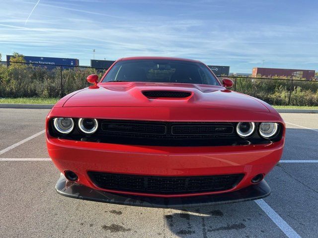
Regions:
M 56 104 L 59 98 L 0 98 L 0 103 Z M 273 106 L 276 109 L 318 109 L 318 106 Z

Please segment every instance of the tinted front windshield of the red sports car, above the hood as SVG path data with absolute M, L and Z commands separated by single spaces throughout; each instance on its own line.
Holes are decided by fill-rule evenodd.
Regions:
M 102 82 L 159 82 L 220 85 L 207 66 L 182 60 L 122 60 Z

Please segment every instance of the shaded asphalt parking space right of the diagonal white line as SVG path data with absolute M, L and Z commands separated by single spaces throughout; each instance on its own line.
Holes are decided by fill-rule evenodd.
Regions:
M 317 171 L 317 163 L 284 163 L 266 179 L 272 194 L 264 201 L 301 237 L 318 234 Z

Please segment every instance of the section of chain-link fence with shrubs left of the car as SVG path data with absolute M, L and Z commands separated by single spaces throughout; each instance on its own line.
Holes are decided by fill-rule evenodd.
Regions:
M 107 69 L 88 66 L 4 62 L 0 63 L 0 97 L 59 98 L 89 86 L 86 77 L 101 77 Z

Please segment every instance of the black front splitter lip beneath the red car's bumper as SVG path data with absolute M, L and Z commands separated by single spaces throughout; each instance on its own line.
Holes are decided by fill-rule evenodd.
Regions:
M 63 174 L 55 185 L 57 192 L 63 196 L 90 200 L 96 202 L 107 202 L 120 205 L 157 207 L 157 208 L 185 208 L 227 203 L 250 201 L 267 197 L 270 187 L 265 180 L 243 189 L 220 194 L 192 196 L 192 197 L 147 197 L 110 193 L 93 189 L 79 183 L 67 180 Z

